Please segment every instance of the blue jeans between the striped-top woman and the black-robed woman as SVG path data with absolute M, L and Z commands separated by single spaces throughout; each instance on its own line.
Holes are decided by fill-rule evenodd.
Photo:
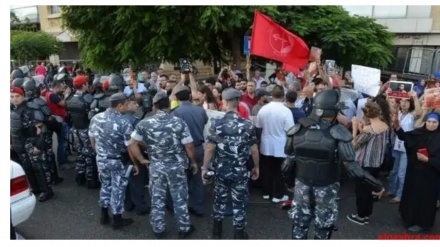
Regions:
M 390 174 L 388 191 L 399 198 L 402 198 L 403 185 L 405 183 L 406 167 L 408 158 L 406 153 L 393 150 L 394 165 Z

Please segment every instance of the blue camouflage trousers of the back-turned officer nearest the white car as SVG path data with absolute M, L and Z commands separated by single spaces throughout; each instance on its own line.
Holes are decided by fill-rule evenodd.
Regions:
M 113 215 L 124 212 L 125 189 L 128 178 L 125 176 L 127 167 L 122 161 L 97 156 L 99 180 L 99 205 L 110 208 Z

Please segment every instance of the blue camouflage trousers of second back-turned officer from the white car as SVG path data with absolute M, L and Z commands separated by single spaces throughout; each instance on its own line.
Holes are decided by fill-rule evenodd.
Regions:
M 151 227 L 155 233 L 165 231 L 167 187 L 173 199 L 174 218 L 179 231 L 187 232 L 191 224 L 188 214 L 188 180 L 184 166 L 170 163 L 150 164 Z

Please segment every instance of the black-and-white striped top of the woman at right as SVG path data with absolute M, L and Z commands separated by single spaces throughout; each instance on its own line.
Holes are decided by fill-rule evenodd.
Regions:
M 357 143 L 354 147 L 356 161 L 361 167 L 378 168 L 385 157 L 388 131 L 376 134 L 373 127 L 371 130 L 373 133 L 363 132 L 357 137 Z

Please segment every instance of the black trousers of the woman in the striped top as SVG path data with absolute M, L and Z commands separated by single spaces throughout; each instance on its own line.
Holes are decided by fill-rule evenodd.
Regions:
M 369 172 L 373 177 L 379 177 L 380 168 L 364 167 L 364 171 Z M 371 194 L 371 187 L 365 183 L 356 182 L 356 207 L 357 215 L 361 218 L 370 217 L 373 213 L 374 197 Z

